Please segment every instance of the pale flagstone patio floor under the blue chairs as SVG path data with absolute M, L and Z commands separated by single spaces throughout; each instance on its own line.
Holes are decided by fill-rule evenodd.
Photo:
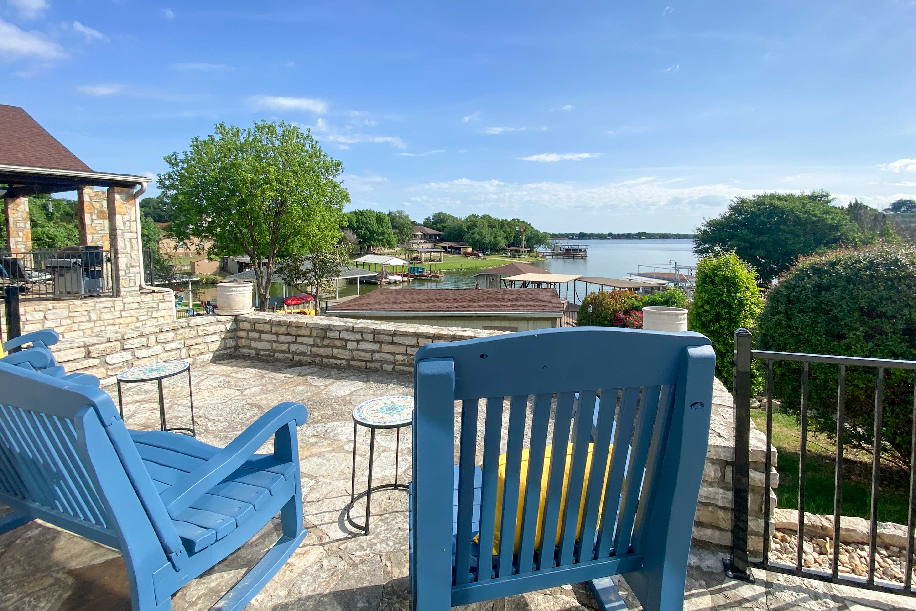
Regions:
M 300 401 L 309 421 L 300 427 L 300 458 L 305 526 L 309 535 L 278 575 L 247 607 L 256 610 L 407 610 L 407 496 L 373 496 L 371 533 L 357 536 L 345 526 L 350 499 L 353 421 L 351 410 L 368 398 L 412 395 L 408 376 L 321 366 L 293 366 L 231 360 L 192 370 L 198 435 L 224 446 L 267 409 L 282 401 Z M 166 380 L 169 425 L 187 421 L 184 376 Z M 116 401 L 116 390 L 113 393 Z M 158 428 L 155 384 L 125 387 L 125 420 L 136 429 Z M 365 486 L 368 437 L 357 441 L 357 489 Z M 399 477 L 409 480 L 410 435 L 402 431 Z M 376 436 L 375 481 L 395 470 L 395 436 Z M 5 513 L 0 507 L 0 513 Z M 354 517 L 361 517 L 359 509 Z M 240 551 L 175 595 L 176 611 L 207 609 L 215 603 L 278 537 L 278 522 L 268 524 Z M 777 573 L 758 572 L 757 584 L 725 580 L 721 552 L 694 549 L 685 608 L 794 609 L 864 611 L 913 609 L 916 599 L 822 584 Z M 627 605 L 640 608 L 627 584 L 618 582 Z M 0 609 L 28 611 L 129 609 L 124 562 L 117 551 L 44 523 L 31 522 L 0 535 Z M 594 609 L 583 584 L 463 607 L 470 611 L 561 611 Z

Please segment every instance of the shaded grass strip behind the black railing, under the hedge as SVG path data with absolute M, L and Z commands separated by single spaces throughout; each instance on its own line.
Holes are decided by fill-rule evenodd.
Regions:
M 767 414 L 751 410 L 751 419 L 760 431 L 767 430 Z M 801 429 L 795 417 L 773 414 L 773 445 L 779 457 L 777 471 L 780 486 L 776 490 L 778 507 L 798 508 L 799 447 Z M 805 477 L 805 511 L 817 514 L 834 513 L 834 456 L 836 444 L 826 435 L 808 431 L 808 461 Z M 868 518 L 871 507 L 871 454 L 861 451 L 843 452 L 843 486 L 840 513 L 844 516 Z M 906 524 L 909 511 L 909 475 L 900 467 L 881 464 L 878 483 L 878 521 Z

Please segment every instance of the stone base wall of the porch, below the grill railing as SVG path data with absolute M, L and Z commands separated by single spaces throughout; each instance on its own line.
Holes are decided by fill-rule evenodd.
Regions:
M 82 300 L 19 301 L 22 333 L 53 329 L 60 337 L 92 336 L 129 329 L 137 324 L 175 320 L 172 292 L 144 290 L 127 297 L 87 297 Z M 0 302 L 0 316 L 5 321 Z

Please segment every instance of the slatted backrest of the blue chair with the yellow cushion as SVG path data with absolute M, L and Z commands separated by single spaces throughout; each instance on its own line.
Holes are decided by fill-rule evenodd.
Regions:
M 440 549 L 432 542 L 436 535 L 424 530 L 437 523 L 430 516 L 434 509 L 424 506 L 444 505 L 428 502 L 425 496 L 445 494 L 435 472 L 451 464 L 457 444 L 452 582 L 456 590 L 581 568 L 578 578 L 569 574 L 562 581 L 566 577 L 557 576 L 561 580 L 557 584 L 568 584 L 603 576 L 602 571 L 623 573 L 641 566 L 649 529 L 655 528 L 653 513 L 670 513 L 671 507 L 668 511 L 656 507 L 660 483 L 666 484 L 661 472 L 671 445 L 672 421 L 679 435 L 684 432 L 683 414 L 672 416 L 675 403 L 684 400 L 688 350 L 698 346 L 703 355 L 712 355 L 709 340 L 699 333 L 594 328 L 423 346 L 416 356 L 414 548 L 429 540 L 430 548 Z M 706 379 L 699 387 L 700 402 L 708 405 L 713 374 L 706 365 Z M 457 435 L 450 412 L 454 401 L 461 402 Z M 692 431 L 699 437 L 692 465 L 694 504 L 705 459 L 709 409 L 704 411 L 704 424 L 700 421 L 697 426 Z M 551 460 L 540 460 L 548 445 Z M 680 448 L 680 443 L 673 445 Z M 572 457 L 567 465 L 569 447 Z M 500 454 L 506 455 L 502 482 Z M 674 458 L 682 460 L 682 456 Z M 483 471 L 479 492 L 474 489 L 477 464 Z M 526 486 L 519 498 L 523 477 Z M 541 507 L 542 486 L 547 492 Z M 502 499 L 500 516 L 496 515 L 497 496 Z M 665 495 L 665 502 L 671 504 L 671 495 Z M 687 513 L 692 523 L 692 509 Z M 423 561 L 415 558 L 415 562 Z M 613 570 L 596 569 L 612 562 Z M 480 595 L 453 599 L 453 604 L 483 599 Z

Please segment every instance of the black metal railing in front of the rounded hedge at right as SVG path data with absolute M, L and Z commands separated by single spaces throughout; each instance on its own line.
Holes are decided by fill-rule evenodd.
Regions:
M 876 562 L 878 558 L 878 478 L 880 475 L 880 456 L 882 452 L 882 425 L 884 419 L 884 385 L 885 372 L 889 369 L 902 369 L 916 371 L 916 361 L 899 361 L 880 358 L 861 358 L 856 356 L 833 355 L 805 355 L 798 353 L 769 352 L 753 350 L 751 348 L 751 333 L 745 329 L 735 332 L 735 370 L 734 370 L 734 397 L 735 397 L 735 466 L 732 477 L 733 486 L 733 535 L 731 558 L 725 560 L 726 574 L 736 579 L 754 581 L 748 567 L 757 567 L 776 573 L 792 574 L 810 579 L 844 584 L 853 587 L 877 590 L 891 594 L 916 595 L 913 589 L 913 530 L 916 518 L 916 379 L 913 381 L 913 411 L 911 420 L 911 474 L 909 513 L 907 520 L 907 547 L 906 547 L 906 572 L 903 584 L 897 585 L 889 581 L 876 583 Z M 748 548 L 748 499 L 750 484 L 750 401 L 752 390 L 752 364 L 754 359 L 766 362 L 766 411 L 767 427 L 764 464 L 764 489 L 763 489 L 763 546 L 762 558 L 749 558 Z M 797 525 L 797 553 L 794 566 L 770 562 L 771 535 L 770 516 L 772 515 L 770 487 L 772 483 L 771 442 L 773 439 L 773 364 L 774 362 L 788 361 L 802 364 L 801 378 L 801 405 L 799 410 L 800 420 L 800 447 L 799 447 L 799 486 L 798 486 L 798 525 Z M 836 451 L 834 464 L 834 532 L 830 546 L 832 557 L 829 571 L 818 570 L 804 566 L 804 531 L 805 531 L 805 480 L 807 470 L 807 444 L 808 444 L 808 418 L 810 393 L 809 377 L 811 364 L 825 364 L 837 366 L 837 393 L 836 393 Z M 869 504 L 870 529 L 868 536 L 867 575 L 862 576 L 839 574 L 841 541 L 840 523 L 843 518 L 840 512 L 841 492 L 843 479 L 843 453 L 845 433 L 845 398 L 846 398 L 846 367 L 869 367 L 876 370 L 875 376 L 875 408 L 874 429 L 872 443 L 872 468 L 871 468 L 871 498 Z M 824 409 L 815 405 L 813 409 Z

